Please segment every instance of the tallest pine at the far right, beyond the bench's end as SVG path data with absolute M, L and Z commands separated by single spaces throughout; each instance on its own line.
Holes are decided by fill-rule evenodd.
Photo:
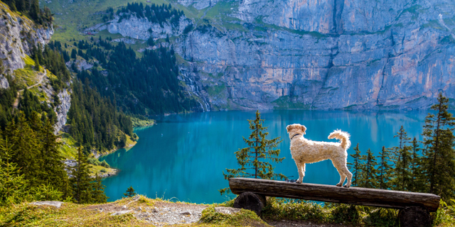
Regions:
M 427 192 L 439 194 L 445 200 L 453 198 L 455 191 L 455 118 L 447 111 L 448 102 L 449 99 L 439 93 L 438 103 L 431 107 L 437 114 L 427 115 L 422 133 L 422 170 L 424 179 L 429 182 Z

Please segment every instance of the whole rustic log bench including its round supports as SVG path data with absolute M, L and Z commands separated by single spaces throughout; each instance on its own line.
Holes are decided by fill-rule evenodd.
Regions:
M 400 209 L 400 226 L 430 226 L 429 212 L 437 211 L 440 196 L 435 194 L 400 192 L 361 187 L 336 187 L 323 184 L 296 184 L 269 179 L 231 178 L 230 191 L 238 194 L 234 207 L 249 209 L 260 215 L 266 204 L 265 196 L 289 199 L 328 201 L 341 204 L 378 206 Z

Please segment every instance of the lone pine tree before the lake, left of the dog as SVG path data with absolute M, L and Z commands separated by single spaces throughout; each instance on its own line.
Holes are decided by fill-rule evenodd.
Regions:
M 262 127 L 264 119 L 261 119 L 259 111 L 256 111 L 255 120 L 248 120 L 252 133 L 248 138 L 243 138 L 248 145 L 247 148 L 239 149 L 235 152 L 237 163 L 240 165 L 238 169 L 226 169 L 227 174 L 223 172 L 225 179 L 232 177 L 254 177 L 260 179 L 284 179 L 286 176 L 273 172 L 274 167 L 267 160 L 272 162 L 282 162 L 284 157 L 279 156 L 277 146 L 282 143 L 280 137 L 267 140 L 269 135 L 267 127 Z M 228 192 L 228 189 L 220 189 L 221 194 Z

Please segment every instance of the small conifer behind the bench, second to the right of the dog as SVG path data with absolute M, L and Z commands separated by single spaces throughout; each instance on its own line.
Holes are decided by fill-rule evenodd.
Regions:
M 375 167 L 378 165 L 378 162 L 376 162 L 376 157 L 370 148 L 367 150 L 367 155 L 362 155 L 360 160 L 364 161 L 363 164 L 360 164 L 360 169 L 363 172 L 362 182 L 360 183 L 361 187 L 377 188 L 378 170 Z

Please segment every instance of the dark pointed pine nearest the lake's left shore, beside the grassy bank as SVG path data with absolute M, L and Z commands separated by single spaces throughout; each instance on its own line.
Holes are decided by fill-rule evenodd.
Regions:
M 87 167 L 87 156 L 82 153 L 82 148 L 77 150 L 77 164 L 72 168 L 70 179 L 73 187 L 73 198 L 78 204 L 90 203 L 92 185 L 90 184 L 90 175 Z

